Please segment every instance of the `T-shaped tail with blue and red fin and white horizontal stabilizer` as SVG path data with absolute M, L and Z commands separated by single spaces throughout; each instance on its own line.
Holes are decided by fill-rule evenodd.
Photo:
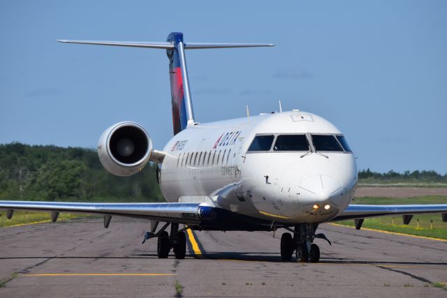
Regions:
M 185 50 L 218 49 L 227 47 L 272 47 L 270 43 L 184 43 L 183 33 L 173 32 L 166 42 L 58 40 L 61 43 L 83 43 L 88 45 L 115 45 L 119 47 L 146 47 L 164 49 L 169 58 L 171 103 L 173 105 L 174 134 L 195 124 Z

